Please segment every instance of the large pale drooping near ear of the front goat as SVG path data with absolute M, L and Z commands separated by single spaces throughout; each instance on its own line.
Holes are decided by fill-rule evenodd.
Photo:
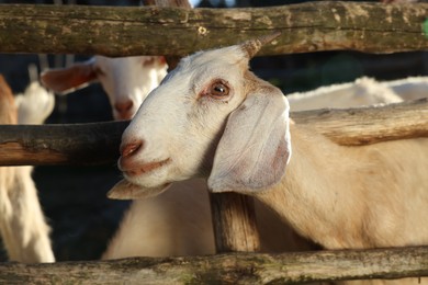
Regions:
M 289 103 L 274 87 L 248 94 L 227 121 L 209 179 L 212 192 L 255 194 L 280 182 L 291 156 Z

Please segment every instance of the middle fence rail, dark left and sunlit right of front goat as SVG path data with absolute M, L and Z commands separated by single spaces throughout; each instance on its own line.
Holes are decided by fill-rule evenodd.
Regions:
M 428 136 L 428 99 L 379 107 L 295 112 L 291 117 L 346 146 Z M 0 166 L 115 163 L 128 123 L 0 125 Z

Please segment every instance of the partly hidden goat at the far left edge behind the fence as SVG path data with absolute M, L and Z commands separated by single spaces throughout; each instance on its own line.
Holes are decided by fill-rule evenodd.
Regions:
M 1 124 L 41 124 L 54 107 L 54 95 L 33 82 L 16 98 L 0 76 Z M 32 180 L 32 167 L 0 168 L 0 231 L 9 259 L 54 262 L 46 225 Z

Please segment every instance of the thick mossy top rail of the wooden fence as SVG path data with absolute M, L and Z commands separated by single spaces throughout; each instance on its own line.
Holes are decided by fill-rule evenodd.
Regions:
M 272 31 L 282 35 L 260 55 L 425 50 L 427 19 L 427 3 L 323 1 L 257 9 L 1 4 L 0 53 L 187 55 Z

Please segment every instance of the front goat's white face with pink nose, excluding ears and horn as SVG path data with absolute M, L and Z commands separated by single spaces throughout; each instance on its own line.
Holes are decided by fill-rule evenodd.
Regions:
M 136 184 L 184 180 L 206 167 L 227 115 L 245 98 L 238 47 L 184 58 L 144 101 L 122 137 L 120 169 Z

